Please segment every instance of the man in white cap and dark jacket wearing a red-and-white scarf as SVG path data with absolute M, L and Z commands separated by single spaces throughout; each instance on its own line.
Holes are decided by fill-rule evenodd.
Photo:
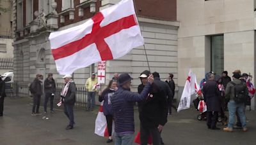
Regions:
M 69 124 L 66 129 L 72 129 L 74 127 L 74 104 L 76 102 L 76 84 L 71 79 L 72 76 L 66 74 L 63 79 L 65 81 L 65 85 L 61 91 L 61 100 L 64 103 L 64 113 L 67 115 Z

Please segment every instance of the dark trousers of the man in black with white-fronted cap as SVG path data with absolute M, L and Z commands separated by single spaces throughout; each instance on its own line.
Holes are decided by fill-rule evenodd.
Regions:
M 140 124 L 140 141 L 141 145 L 148 144 L 148 137 L 151 135 L 153 145 L 160 145 L 160 132 L 157 127 L 143 127 Z

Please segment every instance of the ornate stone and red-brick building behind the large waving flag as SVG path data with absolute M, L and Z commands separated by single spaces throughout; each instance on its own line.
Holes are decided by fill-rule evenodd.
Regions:
M 120 0 L 17 0 L 13 2 L 15 31 L 14 74 L 15 81 L 30 82 L 35 74 L 52 72 L 58 83 L 63 79 L 56 71 L 51 55 L 49 34 L 83 24 L 99 10 Z M 173 72 L 177 81 L 177 22 L 176 0 L 134 1 L 138 20 L 147 50 L 150 70 L 160 73 L 163 79 Z M 157 6 L 157 9 L 156 9 Z M 115 72 L 129 72 L 134 78 L 134 90 L 139 85 L 140 72 L 148 69 L 143 46 L 116 60 L 108 60 L 106 83 Z M 97 64 L 74 72 L 78 85 L 84 85 Z

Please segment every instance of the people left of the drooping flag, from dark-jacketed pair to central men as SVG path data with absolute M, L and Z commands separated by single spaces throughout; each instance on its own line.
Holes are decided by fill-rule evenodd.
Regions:
M 109 85 L 102 92 L 95 86 L 97 78 L 95 73 L 85 83 L 88 94 L 87 110 L 92 111 L 95 107 L 95 95 L 99 91 L 99 102 L 103 101 L 103 113 L 108 125 L 108 143 L 113 142 L 112 130 L 115 123 L 115 144 L 132 144 L 134 136 L 134 102 L 138 102 L 140 114 L 140 141 L 148 144 L 148 137 L 152 138 L 153 144 L 164 144 L 161 138 L 161 130 L 167 122 L 168 114 L 172 114 L 172 99 L 175 93 L 173 74 L 169 74 L 165 81 L 161 81 L 159 73 L 150 71 L 141 72 L 138 76 L 141 84 L 138 93 L 131 92 L 131 76 L 129 74 L 114 74 Z M 36 74 L 36 78 L 29 86 L 33 97 L 32 116 L 39 112 L 41 96 L 44 93 L 44 113 L 47 114 L 47 103 L 50 100 L 50 113 L 54 113 L 53 100 L 56 92 L 56 83 L 52 74 L 43 83 L 42 74 Z M 64 113 L 69 123 L 66 127 L 70 130 L 74 127 L 74 104 L 76 102 L 76 84 L 72 76 L 63 77 L 65 85 L 60 93 L 60 103 L 64 104 Z M 44 89 L 43 89 L 44 88 Z M 43 92 L 44 90 L 44 92 Z

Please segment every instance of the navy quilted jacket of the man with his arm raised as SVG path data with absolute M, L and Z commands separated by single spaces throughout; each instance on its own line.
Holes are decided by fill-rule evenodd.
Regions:
M 134 132 L 134 102 L 140 102 L 145 99 L 150 88 L 150 83 L 147 83 L 140 94 L 122 87 L 119 87 L 114 93 L 111 102 L 116 133 L 125 134 Z

